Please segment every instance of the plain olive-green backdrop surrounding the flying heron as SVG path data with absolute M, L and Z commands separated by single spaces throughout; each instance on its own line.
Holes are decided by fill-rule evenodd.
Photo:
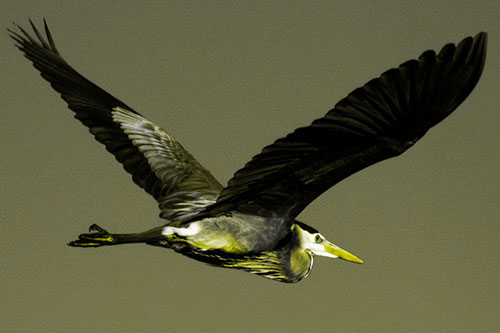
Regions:
M 36 3 L 36 4 L 35 4 Z M 5 332 L 492 332 L 500 327 L 498 1 L 2 1 L 46 17 L 87 78 L 173 134 L 223 183 L 266 144 L 426 49 L 487 31 L 470 97 L 403 156 L 300 216 L 364 265 L 316 258 L 283 284 L 173 251 L 66 246 L 156 202 L 0 34 Z

